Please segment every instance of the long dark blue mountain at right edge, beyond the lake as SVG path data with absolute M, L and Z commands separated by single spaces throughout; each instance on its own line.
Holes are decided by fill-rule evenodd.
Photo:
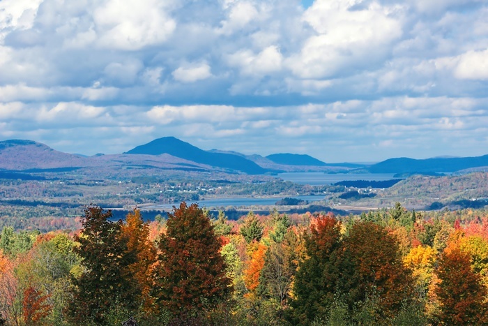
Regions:
M 415 172 L 456 172 L 469 168 L 488 166 L 488 155 L 455 158 L 390 158 L 371 165 L 367 170 L 371 173 L 415 173 Z

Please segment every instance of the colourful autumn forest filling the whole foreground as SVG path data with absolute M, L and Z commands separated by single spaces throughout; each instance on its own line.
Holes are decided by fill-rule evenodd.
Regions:
M 266 215 L 88 206 L 0 235 L 0 325 L 482 325 L 488 213 Z

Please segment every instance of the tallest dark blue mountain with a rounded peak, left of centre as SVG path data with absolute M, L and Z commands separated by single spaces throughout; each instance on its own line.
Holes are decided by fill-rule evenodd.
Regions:
M 238 170 L 249 175 L 262 175 L 267 171 L 256 163 L 234 154 L 218 153 L 215 151 L 204 151 L 188 142 L 183 142 L 174 137 L 163 137 L 148 142 L 145 145 L 137 146 L 125 154 L 169 154 L 196 163 Z

